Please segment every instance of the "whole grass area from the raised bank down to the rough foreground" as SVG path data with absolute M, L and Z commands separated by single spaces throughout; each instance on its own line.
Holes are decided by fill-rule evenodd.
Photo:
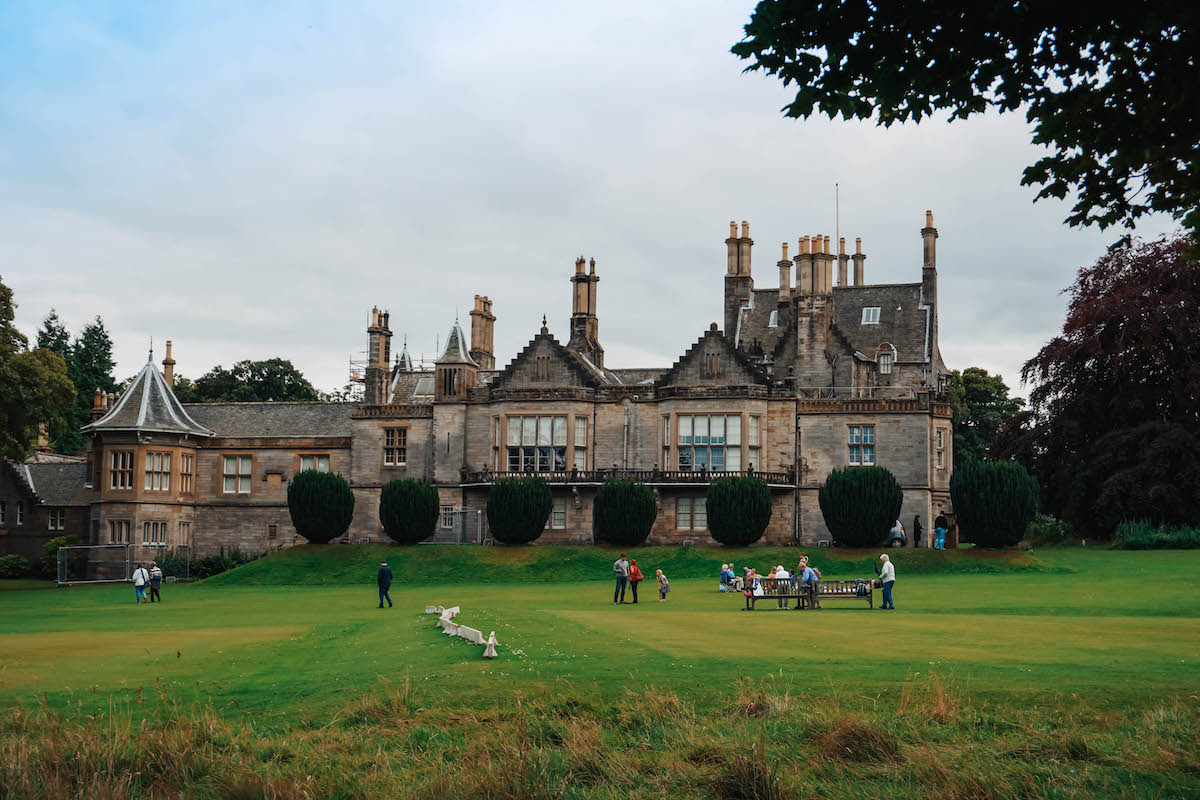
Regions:
M 380 553 L 397 578 L 396 607 L 384 610 L 366 585 Z M 781 765 L 776 796 L 878 796 L 880 787 L 894 796 L 1200 793 L 1200 615 L 1190 590 L 1200 553 L 907 551 L 896 559 L 894 613 L 857 602 L 779 613 L 761 602 L 752 614 L 737 610 L 740 596 L 715 591 L 708 567 L 731 560 L 728 551 L 635 553 L 648 575 L 671 576 L 670 602 L 654 602 L 647 587 L 643 603 L 612 606 L 612 554 L 596 548 L 296 548 L 168 585 L 166 603 L 150 607 L 133 606 L 128 587 L 4 593 L 0 740 L 22 726 L 77 726 L 79 742 L 97 726 L 146 724 L 163 736 L 226 726 L 176 742 L 211 751 L 211 763 L 185 770 L 202 796 L 305 796 L 308 776 L 308 796 L 341 786 L 340 796 L 575 787 L 565 796 L 616 798 L 638 788 L 625 770 L 659 796 L 756 796 L 731 794 L 722 781 L 774 786 L 755 772 L 760 735 L 764 763 Z M 755 549 L 752 560 L 732 560 L 766 567 L 796 555 Z M 812 555 L 827 576 L 872 566 L 860 554 Z M 924 572 L 918 559 L 929 560 Z M 302 585 L 324 583 L 323 572 L 334 585 Z M 686 577 L 696 572 L 710 577 Z M 462 606 L 463 624 L 497 631 L 502 656 L 486 661 L 481 648 L 442 636 L 419 613 L 427 603 Z M 838 732 L 860 740 L 856 724 L 884 732 L 899 750 L 878 763 L 847 762 Z M 314 763 L 299 741 L 334 748 L 337 769 Z M 1181 742 L 1193 745 L 1190 756 Z M 46 764 L 61 757 L 58 745 L 40 746 Z M 131 764 L 143 758 L 138 736 L 126 747 Z M 278 748 L 295 751 L 294 766 L 271 756 Z M 256 789 L 229 765 L 241 763 L 230 752 L 258 764 L 254 774 L 300 783 Z M 110 771 L 124 763 L 106 758 L 96 763 Z M 496 790 L 438 783 L 445 759 L 469 764 L 472 786 Z M 44 769 L 43 784 L 59 786 Z M 587 770 L 600 777 L 581 782 Z M 353 780 L 336 783 L 335 772 Z M 528 782 L 497 788 L 508 774 Z M 59 794 L 76 792 L 74 778 L 59 777 L 68 787 Z M 13 780 L 13 795 L 38 796 Z

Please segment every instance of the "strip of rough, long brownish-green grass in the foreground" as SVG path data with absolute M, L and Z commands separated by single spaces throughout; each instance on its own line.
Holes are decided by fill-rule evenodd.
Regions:
M 1194 798 L 1200 712 L 979 703 L 936 675 L 892 702 L 734 679 L 700 708 L 672 687 L 616 700 L 560 682 L 446 704 L 382 681 L 287 734 L 156 693 L 77 720 L 0 714 L 0 796 Z

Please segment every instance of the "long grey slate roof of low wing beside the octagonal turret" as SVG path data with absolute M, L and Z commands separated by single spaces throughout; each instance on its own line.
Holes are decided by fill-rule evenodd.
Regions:
M 348 437 L 350 403 L 188 403 L 218 437 Z

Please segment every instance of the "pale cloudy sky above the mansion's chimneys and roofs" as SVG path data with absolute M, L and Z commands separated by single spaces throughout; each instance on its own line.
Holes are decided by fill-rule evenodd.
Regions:
M 778 285 L 781 242 L 839 230 L 863 237 L 869 283 L 904 283 L 931 209 L 943 357 L 1024 395 L 1062 290 L 1124 230 L 1033 203 L 1019 114 L 784 118 L 792 94 L 730 53 L 752 7 L 0 4 L 17 325 L 98 314 L 119 380 L 172 339 L 178 374 L 284 357 L 335 390 L 373 306 L 418 361 L 456 317 L 469 332 L 475 294 L 498 365 L 542 314 L 565 342 L 584 255 L 606 366 L 666 367 L 722 324 L 731 219 L 750 222 L 757 288 Z

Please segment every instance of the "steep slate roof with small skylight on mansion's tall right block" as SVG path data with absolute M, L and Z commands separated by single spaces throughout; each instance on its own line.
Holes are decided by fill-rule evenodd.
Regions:
M 896 361 L 924 362 L 932 347 L 931 308 L 922 307 L 919 283 L 844 287 L 833 290 L 834 325 L 851 347 L 875 359 L 881 344 L 896 348 Z M 863 308 L 880 309 L 877 325 L 863 325 Z

